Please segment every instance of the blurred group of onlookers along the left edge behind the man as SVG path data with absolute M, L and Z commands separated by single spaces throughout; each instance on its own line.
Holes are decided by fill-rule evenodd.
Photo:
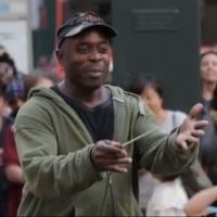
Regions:
M 18 108 L 34 87 L 51 87 L 58 82 L 55 74 L 37 69 L 24 75 L 0 46 L 0 216 L 16 216 L 22 196 L 24 176 L 14 141 L 13 123 Z

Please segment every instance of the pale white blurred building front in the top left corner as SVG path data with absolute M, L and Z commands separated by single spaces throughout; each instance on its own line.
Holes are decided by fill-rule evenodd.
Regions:
M 14 59 L 18 71 L 33 67 L 28 0 L 0 0 L 0 44 Z

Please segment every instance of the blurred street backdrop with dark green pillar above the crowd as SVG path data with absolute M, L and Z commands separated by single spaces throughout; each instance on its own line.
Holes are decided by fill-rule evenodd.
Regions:
M 22 73 L 43 68 L 63 77 L 56 29 L 87 10 L 119 33 L 113 84 L 126 87 L 136 74 L 151 73 L 163 80 L 169 107 L 187 111 L 199 99 L 200 53 L 217 43 L 216 0 L 0 0 L 0 43 Z

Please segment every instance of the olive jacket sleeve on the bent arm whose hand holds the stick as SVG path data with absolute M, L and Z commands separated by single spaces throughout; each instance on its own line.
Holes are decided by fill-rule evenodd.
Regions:
M 23 110 L 15 122 L 15 141 L 28 191 L 41 199 L 53 199 L 76 194 L 102 179 L 90 161 L 93 144 L 59 155 L 49 116 L 40 114 L 40 120 L 35 117 Z

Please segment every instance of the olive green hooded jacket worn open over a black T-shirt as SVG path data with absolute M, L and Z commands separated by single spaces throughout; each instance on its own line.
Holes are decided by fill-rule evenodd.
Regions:
M 182 171 L 197 149 L 175 146 L 176 131 L 162 133 L 139 97 L 107 86 L 114 106 L 114 137 L 122 143 L 145 136 L 125 149 L 133 156 L 127 174 L 107 176 L 90 161 L 93 140 L 76 112 L 53 90 L 37 88 L 15 120 L 15 140 L 25 176 L 20 216 L 140 216 L 133 193 L 137 168 L 155 174 Z M 137 156 L 136 156 L 137 152 Z

